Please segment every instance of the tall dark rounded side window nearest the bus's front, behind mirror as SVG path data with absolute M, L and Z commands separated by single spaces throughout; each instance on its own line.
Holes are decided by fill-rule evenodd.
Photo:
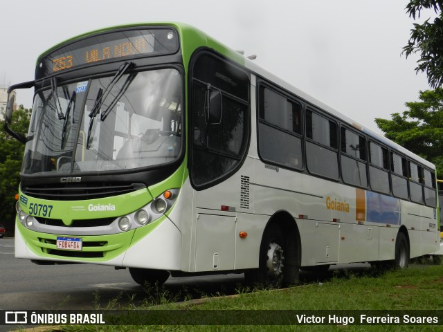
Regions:
M 208 187 L 242 165 L 249 136 L 249 77 L 235 64 L 206 51 L 191 67 L 192 185 Z M 221 98 L 221 118 L 206 114 L 208 86 Z M 209 120 L 209 121 L 208 121 Z

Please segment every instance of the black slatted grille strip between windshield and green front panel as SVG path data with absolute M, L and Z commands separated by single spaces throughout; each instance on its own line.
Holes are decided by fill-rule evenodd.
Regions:
M 69 185 L 46 184 L 28 186 L 22 188 L 21 191 L 25 195 L 35 197 L 36 199 L 82 201 L 129 194 L 130 192 L 135 192 L 145 187 L 142 183 L 132 183 L 129 185 L 112 183 L 70 183 Z

